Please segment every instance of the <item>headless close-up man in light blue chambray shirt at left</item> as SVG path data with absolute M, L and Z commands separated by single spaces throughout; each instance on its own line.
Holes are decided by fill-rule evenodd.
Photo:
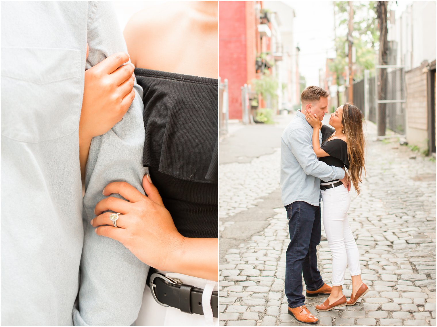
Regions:
M 131 325 L 148 266 L 90 220 L 108 182 L 142 191 L 139 86 L 92 140 L 83 199 L 79 162 L 85 68 L 126 52 L 111 3 L 2 2 L 1 38 L 1 324 Z

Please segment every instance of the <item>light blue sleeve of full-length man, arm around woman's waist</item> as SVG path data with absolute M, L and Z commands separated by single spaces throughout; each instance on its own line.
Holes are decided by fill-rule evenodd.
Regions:
M 303 128 L 291 131 L 288 138 L 288 145 L 301 165 L 303 171 L 307 175 L 312 175 L 328 182 L 333 179 L 343 179 L 344 170 L 334 166 L 328 166 L 324 162 L 317 159 L 316 153 L 312 148 L 311 135 L 310 138 L 302 137 L 302 134 L 309 132 Z

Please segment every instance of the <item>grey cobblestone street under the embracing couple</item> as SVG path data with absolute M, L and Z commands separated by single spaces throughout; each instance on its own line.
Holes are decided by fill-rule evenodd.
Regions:
M 241 127 L 220 142 L 221 326 L 306 325 L 287 313 L 284 295 L 289 235 L 280 197 L 279 146 L 291 118 L 278 116 L 275 127 Z M 337 310 L 315 310 L 327 296 L 307 298 L 305 304 L 319 317 L 316 326 L 435 326 L 436 163 L 397 139 L 375 141 L 371 122 L 367 130 L 367 176 L 359 197 L 351 190 L 349 222 L 370 291 L 356 305 Z M 263 140 L 262 149 L 255 138 L 238 138 L 246 131 Z M 236 141 L 243 156 L 226 153 Z M 329 285 L 331 259 L 322 227 L 318 263 Z M 346 296 L 349 288 L 347 269 Z

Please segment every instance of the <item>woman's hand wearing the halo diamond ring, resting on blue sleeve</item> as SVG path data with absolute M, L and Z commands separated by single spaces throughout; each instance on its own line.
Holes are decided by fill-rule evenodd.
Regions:
M 173 258 L 184 243 L 184 236 L 177 231 L 170 213 L 163 205 L 156 187 L 145 175 L 142 186 L 147 196 L 126 182 L 109 183 L 103 190 L 108 196 L 97 203 L 94 210 L 97 217 L 91 220 L 97 235 L 113 238 L 121 242 L 142 262 L 161 270 L 170 270 Z M 111 194 L 120 194 L 121 200 Z M 112 210 L 121 213 L 116 221 L 109 219 Z M 109 225 L 109 226 L 104 226 Z

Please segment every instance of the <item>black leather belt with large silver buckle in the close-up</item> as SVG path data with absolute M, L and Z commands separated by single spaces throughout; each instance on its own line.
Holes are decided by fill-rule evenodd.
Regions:
M 149 282 L 153 298 L 162 306 L 172 306 L 186 313 L 203 315 L 203 289 L 192 285 L 181 284 L 150 268 Z M 218 317 L 218 292 L 213 291 L 211 296 L 212 316 Z

